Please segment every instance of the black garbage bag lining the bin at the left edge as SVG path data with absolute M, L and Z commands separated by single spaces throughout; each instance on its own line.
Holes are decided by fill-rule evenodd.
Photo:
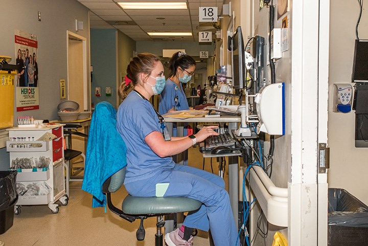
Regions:
M 0 171 L 0 211 L 13 206 L 18 198 L 16 192 L 17 171 Z

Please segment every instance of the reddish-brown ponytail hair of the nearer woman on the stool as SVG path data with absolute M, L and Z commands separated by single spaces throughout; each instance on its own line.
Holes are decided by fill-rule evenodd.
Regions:
M 118 91 L 120 99 L 125 99 L 126 96 L 128 96 L 129 89 L 138 83 L 139 74 L 150 74 L 158 61 L 160 61 L 159 57 L 151 53 L 142 53 L 134 56 L 130 60 L 126 71 L 126 77 L 130 79 L 131 82 L 128 84 L 123 82 L 120 85 Z

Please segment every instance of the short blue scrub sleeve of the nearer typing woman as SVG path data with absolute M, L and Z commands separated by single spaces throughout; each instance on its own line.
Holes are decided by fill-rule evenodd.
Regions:
M 161 132 L 160 123 L 158 123 L 158 117 L 153 106 L 148 101 L 138 108 L 142 110 L 136 111 L 136 114 L 133 116 L 134 119 L 132 119 L 132 125 L 144 141 L 146 136 L 152 131 Z

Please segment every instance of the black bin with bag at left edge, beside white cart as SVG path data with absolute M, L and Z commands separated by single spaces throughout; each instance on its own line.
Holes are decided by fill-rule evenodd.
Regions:
M 13 226 L 14 206 L 18 200 L 16 192 L 17 171 L 0 171 L 0 234 Z

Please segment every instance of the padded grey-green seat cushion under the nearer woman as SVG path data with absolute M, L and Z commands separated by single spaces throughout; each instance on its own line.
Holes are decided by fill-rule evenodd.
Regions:
M 171 214 L 194 211 L 202 205 L 198 200 L 188 197 L 125 197 L 122 210 L 126 214 Z

